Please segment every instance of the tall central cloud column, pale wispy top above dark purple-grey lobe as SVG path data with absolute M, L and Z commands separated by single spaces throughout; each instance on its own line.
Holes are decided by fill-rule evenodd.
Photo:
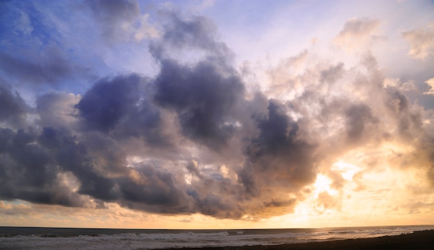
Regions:
M 162 39 L 150 46 L 161 66 L 155 78 L 155 102 L 176 112 L 184 136 L 218 149 L 236 130 L 234 109 L 244 98 L 244 84 L 230 63 L 232 53 L 216 40 L 216 28 L 205 17 L 166 15 L 169 21 Z M 174 49 L 193 54 L 199 49 L 206 55 L 187 66 L 170 57 Z

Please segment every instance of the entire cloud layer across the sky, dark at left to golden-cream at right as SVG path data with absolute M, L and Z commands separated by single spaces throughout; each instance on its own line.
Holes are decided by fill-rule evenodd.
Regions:
M 20 8 L 2 4 L 8 13 Z M 157 71 L 96 79 L 103 66 L 80 66 L 87 57 L 59 43 L 30 48 L 41 57 L 6 51 L 13 45 L 3 42 L 1 199 L 259 219 L 293 213 L 315 192 L 318 175 L 343 192 L 349 180 L 331 166 L 355 151 L 366 171 L 383 163 L 411 169 L 422 173 L 426 192 L 434 188 L 433 107 L 417 102 L 424 94 L 432 101 L 433 75 L 427 90 L 386 76 L 366 49 L 381 38 L 379 19 L 349 19 L 331 41 L 358 62 L 326 60 L 309 48 L 269 66 L 258 87 L 206 17 L 164 10 L 153 26 L 134 1 L 75 8 L 92 13 L 105 46 L 149 39 L 141 46 Z M 34 17 L 20 18 L 17 32 L 30 32 L 26 18 Z M 433 60 L 431 31 L 430 24 L 402 33 L 410 57 Z M 88 87 L 74 92 L 71 79 Z M 37 90 L 34 104 L 20 93 L 27 88 Z M 351 181 L 362 185 L 363 171 Z M 315 206 L 340 209 L 341 199 L 324 190 Z

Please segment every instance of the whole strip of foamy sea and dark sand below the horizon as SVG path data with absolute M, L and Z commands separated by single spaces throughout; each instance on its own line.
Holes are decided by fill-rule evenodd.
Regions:
M 434 249 L 434 226 L 320 229 L 74 229 L 0 226 L 0 249 Z

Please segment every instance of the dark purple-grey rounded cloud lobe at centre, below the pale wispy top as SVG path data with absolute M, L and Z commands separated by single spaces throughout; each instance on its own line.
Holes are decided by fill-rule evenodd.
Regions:
M 234 132 L 230 112 L 244 91 L 235 73 L 222 75 L 212 62 L 191 68 L 164 60 L 155 87 L 155 101 L 176 111 L 184 136 L 219 148 Z

